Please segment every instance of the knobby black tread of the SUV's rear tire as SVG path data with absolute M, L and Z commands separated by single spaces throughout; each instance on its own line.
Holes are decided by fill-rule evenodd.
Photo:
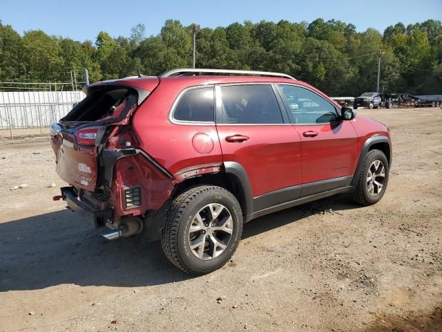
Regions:
M 189 209 L 191 203 L 198 199 L 198 196 L 206 192 L 224 192 L 225 194 L 231 196 L 235 201 L 236 197 L 229 192 L 229 190 L 225 190 L 222 187 L 217 187 L 214 185 L 198 185 L 196 187 L 191 187 L 189 190 L 182 192 L 180 195 L 173 199 L 171 206 L 166 212 L 166 225 L 162 230 L 161 236 L 161 246 L 164 251 L 164 255 L 175 265 L 177 268 L 180 268 L 185 273 L 189 273 L 189 275 L 202 275 L 206 273 L 201 273 L 193 270 L 189 270 L 182 263 L 182 259 L 180 254 L 178 253 L 178 236 L 180 230 L 180 223 L 186 211 Z M 233 255 L 233 253 L 232 253 Z

